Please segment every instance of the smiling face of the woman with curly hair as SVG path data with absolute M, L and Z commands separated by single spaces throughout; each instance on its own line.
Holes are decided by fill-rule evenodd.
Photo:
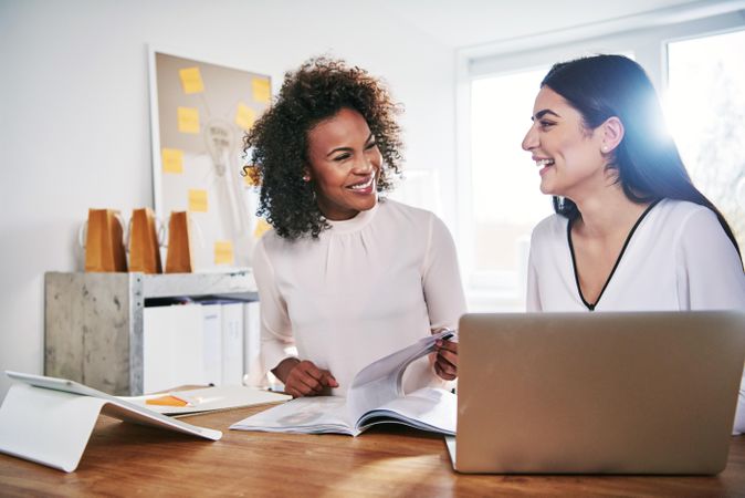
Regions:
M 375 207 L 382 156 L 367 122 L 343 108 L 308 132 L 308 170 L 321 212 L 344 220 Z

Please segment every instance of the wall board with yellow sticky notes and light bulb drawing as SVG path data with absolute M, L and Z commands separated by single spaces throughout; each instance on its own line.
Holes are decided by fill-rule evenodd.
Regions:
M 188 211 L 195 271 L 251 266 L 266 228 L 241 175 L 243 135 L 271 100 L 267 75 L 150 49 L 156 214 Z

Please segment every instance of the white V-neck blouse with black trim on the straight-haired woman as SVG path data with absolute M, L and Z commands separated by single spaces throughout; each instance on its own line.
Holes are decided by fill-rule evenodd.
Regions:
M 527 311 L 588 311 L 575 278 L 568 219 L 553 215 L 533 230 Z M 627 240 L 595 311 L 745 310 L 745 273 L 716 215 L 663 199 Z M 735 430 L 745 432 L 745 376 Z

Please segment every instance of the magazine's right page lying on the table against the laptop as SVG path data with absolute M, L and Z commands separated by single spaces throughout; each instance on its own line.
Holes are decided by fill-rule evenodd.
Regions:
M 392 400 L 363 415 L 358 429 L 382 423 L 399 423 L 423 430 L 455 435 L 458 396 L 439 387 L 423 387 Z

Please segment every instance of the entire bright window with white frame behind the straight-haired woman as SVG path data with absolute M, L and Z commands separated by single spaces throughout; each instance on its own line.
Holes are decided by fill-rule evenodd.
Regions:
M 694 183 L 745 249 L 743 24 L 713 0 L 459 52 L 457 242 L 471 311 L 524 309 L 529 234 L 553 209 L 521 142 L 541 79 L 580 55 L 622 53 L 644 68 Z

